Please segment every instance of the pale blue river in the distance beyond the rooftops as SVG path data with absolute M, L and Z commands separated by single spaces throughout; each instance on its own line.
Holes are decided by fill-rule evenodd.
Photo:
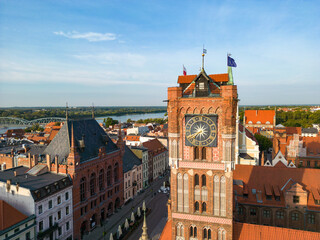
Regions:
M 147 118 L 164 118 L 164 112 L 162 113 L 144 113 L 144 114 L 127 114 L 127 115 L 121 115 L 121 116 L 104 116 L 104 117 L 97 117 L 95 118 L 98 123 L 102 123 L 103 119 L 111 117 L 114 120 L 118 120 L 120 122 L 127 122 L 128 119 L 137 121 L 140 119 L 147 119 Z M 5 133 L 8 129 L 19 129 L 19 128 L 25 128 L 24 126 L 17 127 L 17 126 L 7 126 L 6 128 L 0 128 L 0 134 Z

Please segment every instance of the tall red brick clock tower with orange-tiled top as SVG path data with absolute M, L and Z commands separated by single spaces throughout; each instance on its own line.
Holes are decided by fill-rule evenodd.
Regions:
M 202 68 L 168 88 L 173 240 L 232 239 L 238 94 L 230 79 Z

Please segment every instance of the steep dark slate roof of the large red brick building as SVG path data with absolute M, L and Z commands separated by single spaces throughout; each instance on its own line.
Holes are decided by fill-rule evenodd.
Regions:
M 80 162 L 97 157 L 100 147 L 105 147 L 106 152 L 118 149 L 96 120 L 68 120 L 43 152 L 51 156 L 51 161 L 58 156 L 60 164 L 66 163 L 70 153 L 72 127 Z

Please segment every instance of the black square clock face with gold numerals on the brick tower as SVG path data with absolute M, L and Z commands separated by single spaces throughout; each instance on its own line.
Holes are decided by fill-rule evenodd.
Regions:
M 216 147 L 216 115 L 186 115 L 186 146 Z

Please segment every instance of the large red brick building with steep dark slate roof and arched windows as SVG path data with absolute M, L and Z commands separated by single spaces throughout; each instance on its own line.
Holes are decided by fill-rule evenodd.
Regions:
M 73 180 L 74 239 L 123 204 L 124 142 L 114 144 L 94 119 L 68 120 L 44 154 L 49 171 Z

